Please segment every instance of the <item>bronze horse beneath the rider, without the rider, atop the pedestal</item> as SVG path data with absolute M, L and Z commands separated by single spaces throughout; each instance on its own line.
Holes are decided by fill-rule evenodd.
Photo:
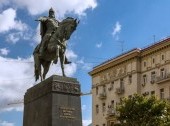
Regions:
M 71 34 L 76 30 L 78 23 L 79 21 L 77 21 L 77 19 L 71 17 L 64 19 L 59 24 L 57 30 L 52 34 L 49 42 L 47 42 L 43 56 L 41 57 L 39 56 L 40 44 L 37 45 L 37 47 L 33 52 L 34 73 L 35 73 L 36 81 L 39 79 L 39 77 L 41 78 L 41 81 L 45 79 L 46 74 L 49 71 L 51 62 L 54 61 L 55 59 L 58 59 L 58 57 L 60 59 L 62 75 L 65 76 L 64 63 L 65 63 L 66 44 Z M 43 75 L 41 74 L 41 66 L 43 67 Z

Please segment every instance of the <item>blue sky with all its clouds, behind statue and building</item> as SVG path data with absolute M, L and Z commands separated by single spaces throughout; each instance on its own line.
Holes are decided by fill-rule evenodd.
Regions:
M 67 16 L 80 24 L 68 42 L 72 61 L 66 74 L 91 90 L 88 72 L 103 61 L 132 48 L 142 48 L 170 35 L 169 0 L 0 0 L 0 126 L 22 126 L 23 99 L 36 84 L 32 52 L 40 42 L 34 20 L 53 7 L 60 21 Z M 48 76 L 61 74 L 53 65 Z M 82 96 L 83 124 L 91 122 L 91 96 Z

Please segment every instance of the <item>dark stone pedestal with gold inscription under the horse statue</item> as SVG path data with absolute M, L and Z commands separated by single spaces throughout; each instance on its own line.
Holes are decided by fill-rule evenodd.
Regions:
M 53 75 L 28 89 L 23 126 L 82 126 L 79 82 Z

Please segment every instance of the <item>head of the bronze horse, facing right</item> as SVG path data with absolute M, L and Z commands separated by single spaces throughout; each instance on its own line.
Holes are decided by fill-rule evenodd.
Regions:
M 76 30 L 77 25 L 79 24 L 79 21 L 77 19 L 68 17 L 64 19 L 60 26 L 63 26 L 63 37 L 68 40 L 71 36 L 71 34 Z

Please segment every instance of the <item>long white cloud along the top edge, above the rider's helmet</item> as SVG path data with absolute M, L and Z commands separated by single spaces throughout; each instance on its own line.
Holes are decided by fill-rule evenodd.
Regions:
M 96 0 L 6 0 L 0 1 L 0 4 L 11 4 L 17 8 L 27 9 L 31 15 L 42 14 L 53 7 L 57 10 L 57 15 L 63 17 L 66 13 L 75 13 L 85 15 L 89 8 L 94 9 L 97 6 Z M 41 6 L 40 6 L 41 5 Z

